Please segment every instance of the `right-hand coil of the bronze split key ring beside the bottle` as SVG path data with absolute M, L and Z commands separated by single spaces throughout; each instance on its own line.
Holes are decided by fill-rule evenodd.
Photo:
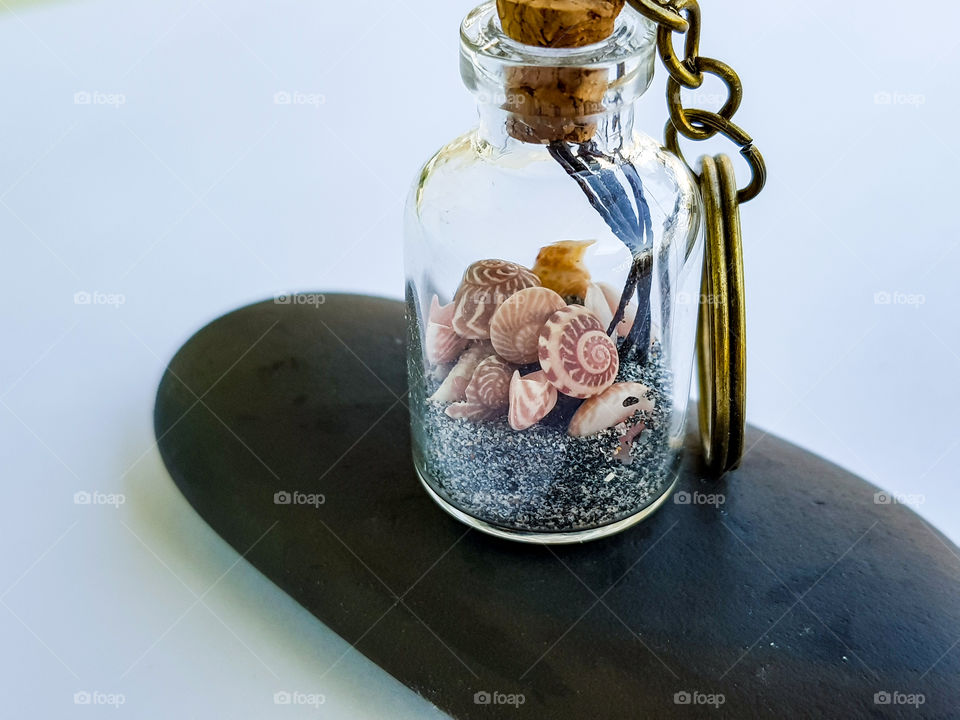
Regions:
M 736 470 L 743 457 L 747 429 L 747 315 L 743 280 L 743 237 L 740 232 L 740 203 L 733 160 L 714 157 L 720 174 L 720 208 L 723 214 L 727 288 L 730 323 L 730 445 L 724 472 Z

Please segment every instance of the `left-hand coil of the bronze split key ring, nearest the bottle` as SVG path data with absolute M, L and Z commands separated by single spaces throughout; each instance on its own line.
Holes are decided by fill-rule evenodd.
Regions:
M 719 476 L 730 446 L 730 323 L 720 178 L 713 158 L 703 158 L 700 178 L 706 246 L 697 319 L 698 412 L 704 461 Z

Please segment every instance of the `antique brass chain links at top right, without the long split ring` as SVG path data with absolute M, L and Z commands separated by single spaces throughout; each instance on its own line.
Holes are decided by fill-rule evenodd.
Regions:
M 640 14 L 658 25 L 657 50 L 670 78 L 667 81 L 667 108 L 670 120 L 664 131 L 666 146 L 683 158 L 678 134 L 691 140 L 709 140 L 723 135 L 740 147 L 740 154 L 750 165 L 750 183 L 737 191 L 740 204 L 749 202 L 763 190 L 767 168 L 763 156 L 742 128 L 733 123 L 733 116 L 743 99 L 740 76 L 726 63 L 700 55 L 700 4 L 697 0 L 627 0 Z M 684 35 L 683 58 L 673 46 L 674 33 Z M 683 107 L 683 88 L 697 89 L 704 73 L 715 75 L 727 86 L 728 97 L 716 112 Z M 684 159 L 686 162 L 686 159 Z M 687 163 L 689 165 L 689 163 Z

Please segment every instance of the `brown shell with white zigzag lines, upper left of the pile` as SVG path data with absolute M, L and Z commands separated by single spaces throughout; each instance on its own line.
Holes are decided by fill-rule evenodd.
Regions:
M 480 260 L 463 273 L 453 297 L 451 327 L 461 337 L 483 340 L 490 337 L 493 313 L 519 290 L 540 284 L 537 276 L 506 260 Z

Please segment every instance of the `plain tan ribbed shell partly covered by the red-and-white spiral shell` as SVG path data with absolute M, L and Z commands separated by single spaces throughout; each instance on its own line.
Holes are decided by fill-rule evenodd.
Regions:
M 547 318 L 566 305 L 562 297 L 547 288 L 524 288 L 514 293 L 497 308 L 490 321 L 494 350 L 519 365 L 534 362 L 540 329 Z

